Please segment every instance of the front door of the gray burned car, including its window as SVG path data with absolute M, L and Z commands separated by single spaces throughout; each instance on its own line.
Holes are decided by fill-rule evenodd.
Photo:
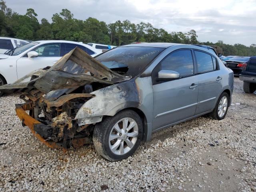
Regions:
M 180 73 L 175 80 L 158 81 L 160 70 Z M 194 75 L 192 50 L 168 54 L 152 71 L 154 110 L 153 130 L 194 116 L 198 99 L 198 77 Z

